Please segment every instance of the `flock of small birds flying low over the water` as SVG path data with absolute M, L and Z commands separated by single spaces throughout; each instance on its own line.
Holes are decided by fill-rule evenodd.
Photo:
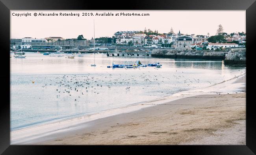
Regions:
M 177 70 L 174 72 L 177 73 Z M 182 73 L 184 72 L 182 71 Z M 112 75 L 113 73 L 110 74 L 108 72 L 95 75 L 90 73 L 87 73 L 86 75 L 64 75 L 61 77 L 56 77 L 55 80 L 50 80 L 50 85 L 57 86 L 57 98 L 59 98 L 61 94 L 65 94 L 69 97 L 74 97 L 74 101 L 78 101 L 78 98 L 81 98 L 83 95 L 88 93 L 98 95 L 100 93 L 106 93 L 108 89 L 112 88 L 114 88 L 113 91 L 116 91 L 119 94 L 122 93 L 122 90 L 130 90 L 131 87 L 149 90 L 159 87 L 160 84 L 166 84 L 168 82 L 172 87 L 175 87 L 178 83 L 190 86 L 192 84 L 201 82 L 200 79 L 186 78 L 184 76 L 185 74 L 182 75 L 182 73 L 180 72 L 178 75 L 173 73 L 165 76 L 159 74 L 159 72 L 156 74 L 155 72 L 150 73 L 150 71 L 146 71 L 145 73 L 141 71 L 140 75 L 131 75 L 127 73 L 115 73 L 115 75 Z M 170 82 L 174 82 L 173 85 Z M 211 84 L 210 81 L 205 82 L 209 82 L 209 84 Z M 48 84 L 45 84 L 42 87 L 47 85 Z M 193 88 L 195 88 L 195 86 L 196 85 L 193 85 Z M 167 85 L 164 85 L 163 89 L 166 88 Z M 136 89 L 133 89 L 133 91 L 136 91 Z M 163 91 L 161 91 L 161 93 L 163 93 Z

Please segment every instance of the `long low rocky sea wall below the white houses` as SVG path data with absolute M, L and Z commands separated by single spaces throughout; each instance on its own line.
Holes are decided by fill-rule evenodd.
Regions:
M 223 59 L 225 58 L 228 50 L 213 51 L 213 50 L 176 50 L 176 49 L 153 49 L 152 57 L 163 57 L 163 58 L 208 58 L 208 59 Z

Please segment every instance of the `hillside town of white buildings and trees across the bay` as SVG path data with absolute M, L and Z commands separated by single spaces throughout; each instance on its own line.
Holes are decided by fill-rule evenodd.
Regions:
M 62 46 L 64 49 L 108 49 L 111 46 L 117 47 L 138 47 L 143 49 L 177 49 L 177 50 L 222 50 L 223 48 L 246 47 L 246 33 L 224 33 L 221 24 L 216 35 L 195 35 L 183 34 L 180 30 L 174 33 L 173 28 L 168 33 L 151 31 L 117 31 L 112 37 L 91 38 L 90 40 L 79 35 L 77 38 L 62 38 L 50 36 L 43 39 L 24 37 L 21 39 L 10 39 L 11 49 L 50 49 Z M 90 46 L 105 47 L 93 48 Z

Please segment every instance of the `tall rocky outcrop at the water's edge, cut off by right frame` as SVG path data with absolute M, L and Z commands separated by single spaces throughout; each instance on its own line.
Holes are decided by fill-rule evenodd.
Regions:
M 246 49 L 231 49 L 225 55 L 224 64 L 227 66 L 246 66 Z

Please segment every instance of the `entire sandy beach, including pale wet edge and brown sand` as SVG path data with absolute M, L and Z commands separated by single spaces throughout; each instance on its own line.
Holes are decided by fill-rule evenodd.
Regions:
M 126 108 L 11 132 L 11 144 L 245 145 L 246 75 Z

